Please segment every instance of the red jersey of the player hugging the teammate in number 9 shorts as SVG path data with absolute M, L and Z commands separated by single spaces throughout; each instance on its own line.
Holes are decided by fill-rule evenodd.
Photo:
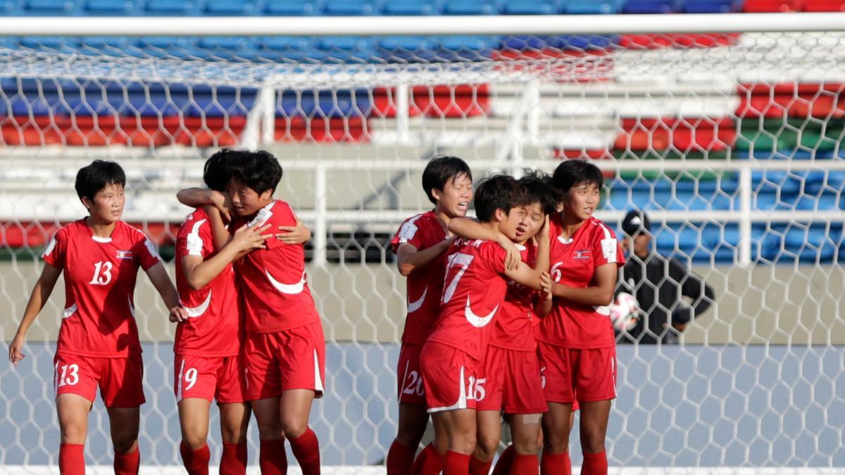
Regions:
M 229 226 L 234 233 L 243 226 L 236 219 Z M 270 224 L 267 232 L 280 226 L 296 226 L 291 205 L 276 200 L 264 206 L 247 223 Z M 235 264 L 248 331 L 273 333 L 319 322 L 308 276 L 305 274 L 305 246 L 282 243 L 275 237 L 264 242 L 266 248 L 254 249 Z

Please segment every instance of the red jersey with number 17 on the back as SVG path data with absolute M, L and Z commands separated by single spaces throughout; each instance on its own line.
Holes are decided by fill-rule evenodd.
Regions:
M 449 248 L 440 317 L 428 336 L 478 361 L 487 351 L 493 317 L 507 291 L 506 253 L 491 241 L 455 239 Z

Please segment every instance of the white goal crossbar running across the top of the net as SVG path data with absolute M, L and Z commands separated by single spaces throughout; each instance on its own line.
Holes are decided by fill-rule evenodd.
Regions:
M 841 31 L 845 14 L 5 17 L 0 35 L 557 35 Z

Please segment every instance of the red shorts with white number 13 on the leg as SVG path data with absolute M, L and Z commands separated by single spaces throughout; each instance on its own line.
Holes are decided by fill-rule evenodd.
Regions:
M 94 402 L 97 386 L 106 407 L 144 404 L 144 361 L 135 354 L 120 358 L 94 358 L 56 352 L 53 358 L 56 396 L 76 394 Z

